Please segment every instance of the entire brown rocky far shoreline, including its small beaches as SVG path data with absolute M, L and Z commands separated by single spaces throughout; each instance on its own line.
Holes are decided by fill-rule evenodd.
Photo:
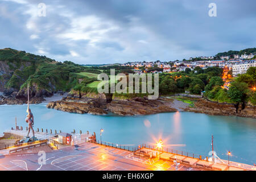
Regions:
M 183 100 L 191 100 L 190 104 L 176 99 L 175 96 L 163 96 L 158 100 L 146 100 L 144 98 L 133 98 L 130 100 L 113 100 L 110 103 L 97 98 L 83 97 L 81 100 L 76 97 L 68 97 L 68 93 L 55 93 L 52 97 L 43 97 L 41 102 L 31 104 L 47 104 L 47 108 L 66 111 L 69 113 L 108 115 L 109 113 L 132 116 L 132 115 L 151 115 L 158 113 L 170 113 L 175 111 L 189 111 L 194 113 L 204 113 L 209 115 L 238 116 L 244 118 L 256 118 L 256 106 L 247 105 L 241 113 L 236 113 L 233 104 L 218 103 L 208 101 L 205 98 L 181 97 Z M 7 105 L 26 105 L 26 103 L 0 104 Z

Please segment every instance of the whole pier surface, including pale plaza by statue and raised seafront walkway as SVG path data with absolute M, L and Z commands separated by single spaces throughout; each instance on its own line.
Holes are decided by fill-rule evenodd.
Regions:
M 6 133 L 24 137 L 26 130 L 6 130 Z M 35 132 L 38 139 L 49 139 L 54 135 L 49 133 Z M 74 136 L 77 138 L 77 134 Z M 142 147 L 137 152 L 148 152 L 153 158 L 136 155 L 137 152 L 123 150 L 108 145 L 75 141 L 75 146 L 60 147 L 60 150 L 49 150 L 47 146 L 28 148 L 10 154 L 10 149 L 0 150 L 0 170 L 163 170 L 175 171 L 256 171 L 256 167 L 247 164 L 228 162 L 221 160 L 215 163 L 200 160 L 188 156 L 160 152 L 151 148 Z M 46 152 L 47 163 L 43 166 L 38 164 L 38 152 Z M 156 156 L 154 158 L 154 156 Z M 18 161 L 18 162 L 17 162 Z M 20 166 L 22 164 L 22 166 Z M 24 167 L 26 166 L 26 167 Z

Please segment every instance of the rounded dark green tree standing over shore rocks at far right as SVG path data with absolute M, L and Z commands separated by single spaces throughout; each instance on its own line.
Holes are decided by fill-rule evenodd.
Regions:
M 248 89 L 248 84 L 245 82 L 238 82 L 234 81 L 231 83 L 231 86 L 229 87 L 228 90 L 228 96 L 231 101 L 233 101 L 234 107 L 236 107 L 236 112 L 238 113 L 238 107 L 240 105 L 240 102 L 242 102 L 242 109 L 245 109 L 245 102 L 246 98 L 248 97 L 249 89 Z M 240 110 L 240 113 L 241 113 Z

